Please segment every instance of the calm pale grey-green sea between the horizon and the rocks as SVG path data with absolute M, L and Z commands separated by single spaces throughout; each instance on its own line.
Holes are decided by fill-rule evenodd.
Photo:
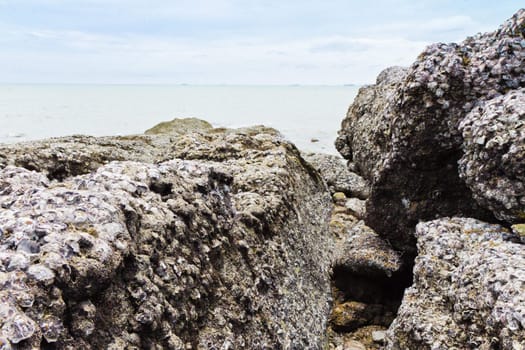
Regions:
M 173 118 L 266 125 L 300 149 L 335 153 L 355 86 L 0 85 L 0 142 L 143 133 Z M 318 142 L 311 142 L 318 139 Z

